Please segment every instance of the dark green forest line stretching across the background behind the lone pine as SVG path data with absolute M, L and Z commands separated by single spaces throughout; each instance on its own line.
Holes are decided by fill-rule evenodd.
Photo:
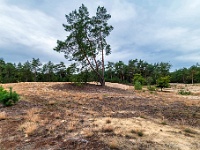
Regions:
M 143 85 L 156 84 L 160 77 L 169 76 L 172 83 L 200 83 L 200 66 L 198 64 L 190 68 L 181 68 L 170 72 L 171 64 L 160 62 L 150 64 L 144 60 L 129 60 L 108 62 L 105 65 L 105 81 L 113 83 L 132 84 L 134 77 L 140 79 Z M 0 59 L 0 82 L 91 82 L 98 81 L 95 73 L 88 68 L 79 69 L 72 64 L 66 66 L 64 62 L 54 64 L 49 61 L 42 64 L 40 59 L 18 64 L 5 62 Z

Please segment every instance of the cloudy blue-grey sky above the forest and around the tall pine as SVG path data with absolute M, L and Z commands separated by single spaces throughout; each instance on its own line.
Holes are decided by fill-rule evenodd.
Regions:
M 65 15 L 84 4 L 91 16 L 98 6 L 111 15 L 105 61 L 168 62 L 171 70 L 200 63 L 199 0 L 0 0 L 0 58 L 18 63 L 71 62 L 53 50 L 68 33 Z

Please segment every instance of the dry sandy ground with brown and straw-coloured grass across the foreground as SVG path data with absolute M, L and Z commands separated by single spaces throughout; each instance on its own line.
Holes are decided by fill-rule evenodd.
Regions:
M 164 92 L 112 83 L 2 86 L 21 99 L 0 105 L 0 150 L 200 149 L 200 85 L 172 84 Z

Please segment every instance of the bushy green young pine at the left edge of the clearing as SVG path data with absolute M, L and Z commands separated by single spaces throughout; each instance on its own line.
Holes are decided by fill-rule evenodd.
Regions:
M 19 100 L 19 95 L 10 87 L 10 91 L 4 90 L 2 86 L 0 86 L 0 103 L 3 106 L 12 106 Z

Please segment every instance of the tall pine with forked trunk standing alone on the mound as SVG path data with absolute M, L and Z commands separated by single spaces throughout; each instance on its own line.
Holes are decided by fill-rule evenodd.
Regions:
M 102 86 L 104 79 L 104 55 L 111 53 L 106 37 L 113 30 L 108 25 L 111 15 L 104 7 L 98 7 L 96 16 L 90 17 L 86 6 L 66 15 L 67 24 L 63 24 L 69 33 L 65 41 L 57 41 L 57 52 L 63 52 L 66 59 L 79 62 L 82 68 L 88 66 L 96 73 Z

